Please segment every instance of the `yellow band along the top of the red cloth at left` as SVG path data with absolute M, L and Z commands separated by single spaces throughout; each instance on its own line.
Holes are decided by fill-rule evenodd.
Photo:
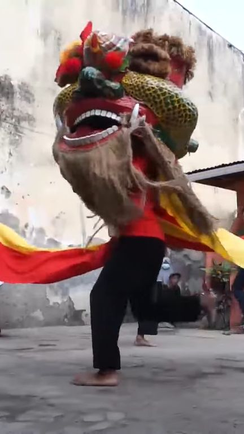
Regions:
M 31 244 L 28 244 L 22 237 L 20 237 L 13 229 L 6 226 L 5 224 L 0 223 L 0 243 L 10 249 L 17 250 L 21 253 L 32 253 L 32 252 L 40 252 L 40 251 L 49 251 L 56 252 L 60 250 L 68 250 L 69 248 L 60 248 L 60 249 L 45 249 L 43 247 L 35 247 Z M 86 247 L 87 250 L 96 250 L 99 246 L 90 246 Z M 76 247 L 71 247 L 76 248 Z M 79 248 L 79 247 L 77 247 Z

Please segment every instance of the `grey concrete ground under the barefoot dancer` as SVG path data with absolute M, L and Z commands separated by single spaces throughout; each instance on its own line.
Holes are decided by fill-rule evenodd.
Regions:
M 89 327 L 9 330 L 0 339 L 1 434 L 243 434 L 244 336 L 160 331 L 133 346 L 125 325 L 117 388 L 69 382 L 92 360 Z

